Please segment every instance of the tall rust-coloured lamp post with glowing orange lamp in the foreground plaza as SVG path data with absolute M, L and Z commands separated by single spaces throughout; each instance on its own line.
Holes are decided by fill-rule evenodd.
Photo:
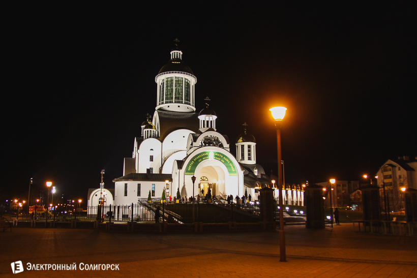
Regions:
M 270 109 L 272 117 L 275 120 L 277 129 L 277 153 L 278 153 L 278 189 L 279 189 L 279 207 L 280 207 L 280 262 L 286 262 L 285 256 L 285 232 L 284 232 L 284 211 L 282 205 L 282 157 L 281 157 L 281 126 L 282 119 L 285 116 L 285 107 L 273 107 Z

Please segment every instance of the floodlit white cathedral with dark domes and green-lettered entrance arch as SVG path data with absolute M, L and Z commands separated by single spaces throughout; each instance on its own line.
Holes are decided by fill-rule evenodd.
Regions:
M 155 77 L 154 115 L 152 119 L 147 115 L 143 121 L 132 157 L 125 158 L 123 176 L 113 180 L 114 191 L 91 189 L 88 205 L 97 205 L 103 190 L 105 205 L 136 204 L 149 192 L 155 199 L 160 199 L 164 191 L 166 197 L 173 198 L 178 189 L 181 197 L 189 198 L 193 196 L 192 176 L 196 177 L 195 197 L 204 196 L 210 188 L 212 195 L 224 199 L 230 194 L 242 197 L 247 191 L 256 200 L 260 188 L 273 187 L 271 177 L 256 164 L 255 137 L 246 132 L 246 127 L 235 141 L 235 157 L 230 152 L 233 146 L 229 138 L 216 130 L 215 111 L 207 103 L 196 112 L 197 78 L 182 55 L 175 44 L 168 64 Z

